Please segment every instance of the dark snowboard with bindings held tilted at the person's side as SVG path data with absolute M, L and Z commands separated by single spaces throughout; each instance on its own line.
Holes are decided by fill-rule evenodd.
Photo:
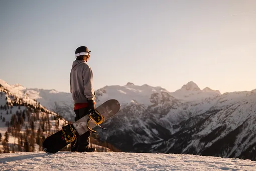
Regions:
M 120 109 L 119 102 L 115 99 L 111 99 L 111 100 L 104 102 L 100 106 L 98 106 L 96 108 L 96 111 L 98 114 L 100 114 L 103 117 L 103 120 L 105 121 L 105 120 L 113 117 L 115 114 L 117 114 L 119 109 Z M 97 125 L 93 121 L 88 122 L 88 119 L 90 120 L 90 117 L 87 114 L 84 117 L 82 117 L 81 119 L 68 125 L 68 127 L 72 128 L 71 129 L 72 135 L 79 137 L 82 134 L 84 134 L 85 132 L 90 130 L 90 129 L 88 129 L 88 127 L 91 129 L 95 128 L 96 126 L 100 127 L 100 125 Z M 63 128 L 62 130 L 48 136 L 44 140 L 43 149 L 46 153 L 56 153 L 70 143 L 67 140 L 67 137 L 70 137 L 70 136 L 65 133 L 66 127 L 62 127 L 62 128 Z M 106 128 L 103 128 L 103 129 L 106 129 Z M 71 135 L 71 137 L 72 137 L 72 135 Z

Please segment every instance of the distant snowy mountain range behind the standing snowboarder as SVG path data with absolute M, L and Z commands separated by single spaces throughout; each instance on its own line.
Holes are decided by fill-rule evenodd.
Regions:
M 10 85 L 18 96 L 73 120 L 70 93 Z M 255 160 L 256 89 L 220 94 L 193 81 L 175 92 L 148 84 L 111 85 L 96 91 L 96 106 L 116 99 L 121 110 L 97 129 L 101 141 L 125 152 L 180 153 Z

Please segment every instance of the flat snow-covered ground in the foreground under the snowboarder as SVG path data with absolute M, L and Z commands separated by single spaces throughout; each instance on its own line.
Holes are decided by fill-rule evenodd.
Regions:
M 185 154 L 19 152 L 0 155 L 1 170 L 256 170 L 256 161 Z

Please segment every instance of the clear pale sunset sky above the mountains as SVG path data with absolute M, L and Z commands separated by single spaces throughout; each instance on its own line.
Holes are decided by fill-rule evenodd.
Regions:
M 0 0 L 0 79 L 69 92 L 75 49 L 91 51 L 95 90 L 189 81 L 256 89 L 256 1 Z

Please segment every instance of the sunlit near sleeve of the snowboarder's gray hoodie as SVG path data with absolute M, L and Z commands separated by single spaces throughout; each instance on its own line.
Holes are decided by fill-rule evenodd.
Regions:
M 83 75 L 83 86 L 84 86 L 84 95 L 88 100 L 94 100 L 94 90 L 92 87 L 92 70 L 88 65 L 85 65 L 84 70 L 82 72 Z

